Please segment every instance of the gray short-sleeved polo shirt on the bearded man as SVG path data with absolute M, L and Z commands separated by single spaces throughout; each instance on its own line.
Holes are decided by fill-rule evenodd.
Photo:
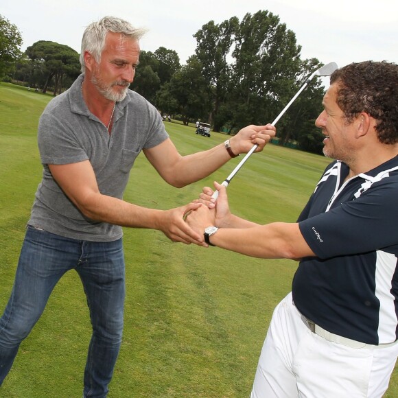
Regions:
M 159 145 L 168 134 L 159 112 L 141 95 L 128 90 L 117 102 L 112 134 L 87 108 L 81 91 L 83 75 L 45 108 L 38 125 L 43 179 L 38 185 L 28 224 L 73 239 L 110 242 L 120 226 L 89 220 L 58 186 L 47 165 L 89 160 L 100 192 L 123 198 L 130 169 L 143 148 Z

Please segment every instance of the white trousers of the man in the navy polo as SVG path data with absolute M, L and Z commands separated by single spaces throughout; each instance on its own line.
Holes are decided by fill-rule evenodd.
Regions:
M 386 392 L 398 344 L 353 349 L 312 333 L 292 294 L 274 309 L 251 398 L 378 398 Z

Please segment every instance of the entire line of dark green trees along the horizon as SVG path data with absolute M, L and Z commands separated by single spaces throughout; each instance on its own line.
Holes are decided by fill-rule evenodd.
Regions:
M 195 54 L 185 65 L 176 51 L 141 51 L 130 87 L 162 114 L 184 124 L 200 121 L 234 134 L 248 124 L 272 122 L 308 75 L 323 64 L 302 59 L 296 35 L 268 10 L 215 23 L 194 34 Z M 54 95 L 80 73 L 79 54 L 67 45 L 40 40 L 25 53 L 18 28 L 0 15 L 0 78 L 20 81 Z M 321 153 L 322 134 L 314 126 L 325 89 L 314 79 L 278 122 L 279 142 Z

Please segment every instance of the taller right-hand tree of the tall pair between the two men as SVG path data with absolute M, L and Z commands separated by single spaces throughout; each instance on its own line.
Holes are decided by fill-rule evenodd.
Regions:
M 292 96 L 301 47 L 294 32 L 268 11 L 246 14 L 235 40 L 233 89 L 237 127 L 272 121 Z

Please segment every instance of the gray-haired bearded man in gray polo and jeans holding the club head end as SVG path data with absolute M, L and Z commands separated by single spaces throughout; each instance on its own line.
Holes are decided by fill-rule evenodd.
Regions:
M 54 286 L 75 269 L 93 325 L 83 395 L 106 397 L 123 329 L 121 226 L 158 229 L 173 242 L 203 244 L 202 234 L 183 221 L 185 211 L 199 204 L 161 211 L 122 200 L 134 160 L 143 150 L 167 183 L 183 187 L 229 161 L 231 151 L 248 152 L 255 143 L 262 150 L 275 134 L 272 126 L 248 126 L 230 143 L 180 156 L 156 108 L 128 89 L 142 35 L 143 30 L 114 17 L 91 23 L 82 39 L 83 74 L 40 117 L 43 180 L 0 319 L 0 385 Z

